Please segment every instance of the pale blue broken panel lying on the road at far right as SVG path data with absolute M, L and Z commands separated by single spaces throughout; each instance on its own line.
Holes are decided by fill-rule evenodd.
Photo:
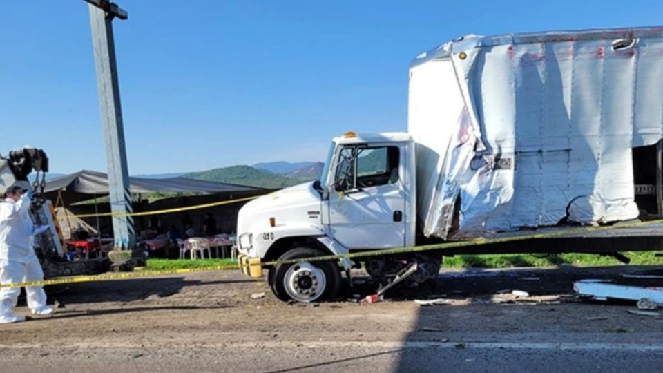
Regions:
M 573 283 L 573 290 L 597 300 L 616 298 L 637 301 L 647 298 L 655 303 L 663 303 L 663 287 L 619 285 L 606 280 L 578 280 Z

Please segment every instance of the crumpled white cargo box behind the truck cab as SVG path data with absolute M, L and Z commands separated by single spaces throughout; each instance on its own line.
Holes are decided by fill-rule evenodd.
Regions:
M 427 236 L 638 216 L 632 148 L 663 132 L 663 28 L 468 35 L 410 69 Z M 436 170 L 436 173 L 431 173 Z

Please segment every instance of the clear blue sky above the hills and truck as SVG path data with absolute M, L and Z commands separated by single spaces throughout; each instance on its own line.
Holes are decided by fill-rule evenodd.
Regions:
M 347 130 L 406 131 L 407 67 L 468 33 L 663 23 L 663 1 L 123 0 L 131 173 L 323 160 Z M 3 0 L 0 153 L 106 170 L 87 5 Z

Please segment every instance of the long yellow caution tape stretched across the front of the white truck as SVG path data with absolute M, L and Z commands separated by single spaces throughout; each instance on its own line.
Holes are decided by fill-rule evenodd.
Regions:
M 283 264 L 292 264 L 298 262 L 318 262 L 323 260 L 339 260 L 343 258 L 366 258 L 369 256 L 384 256 L 384 255 L 394 255 L 394 254 L 405 254 L 405 253 L 414 253 L 421 251 L 431 251 L 431 250 L 440 250 L 440 249 L 452 249 L 457 247 L 468 247 L 468 246 L 480 246 L 480 245 L 490 245 L 495 243 L 503 242 L 517 242 L 524 240 L 541 240 L 544 238 L 561 238 L 564 236 L 577 235 L 581 233 L 593 233 L 596 231 L 611 231 L 616 229 L 624 228 L 633 228 L 633 227 L 645 227 L 648 225 L 654 224 L 663 224 L 663 219 L 649 220 L 646 222 L 632 222 L 632 223 L 623 223 L 619 225 L 603 226 L 603 227 L 579 227 L 575 229 L 564 229 L 561 231 L 550 232 L 550 233 L 534 233 L 523 236 L 509 236 L 502 238 L 477 238 L 474 240 L 468 241 L 457 241 L 457 242 L 443 242 L 440 244 L 433 245 L 421 245 L 421 246 L 412 246 L 412 247 L 398 247 L 395 249 L 377 249 L 370 251 L 361 251 L 358 253 L 349 253 L 349 254 L 338 254 L 338 255 L 327 255 L 327 256 L 316 256 L 312 258 L 300 258 L 300 259 L 291 259 L 291 260 L 271 260 L 269 262 L 261 262 L 254 264 L 246 265 L 231 265 L 231 266 L 213 266 L 213 267 L 201 267 L 201 268 L 191 268 L 191 269 L 169 269 L 163 271 L 140 271 L 140 272 L 129 272 L 122 274 L 103 274 L 103 275 L 94 275 L 94 276 L 77 276 L 77 277 L 68 277 L 68 278 L 53 278 L 51 280 L 41 280 L 41 281 L 32 281 L 28 283 L 13 283 L 0 285 L 0 289 L 10 288 L 10 287 L 26 287 L 26 286 L 46 286 L 46 285 L 64 285 L 64 284 L 73 284 L 73 283 L 90 283 L 93 281 L 108 281 L 108 280 L 124 280 L 129 278 L 141 278 L 141 277 L 155 277 L 155 276 L 171 276 L 175 274 L 188 274 L 192 272 L 203 272 L 203 271 L 222 271 L 227 269 L 239 269 L 240 267 L 251 267 L 256 266 L 276 266 Z M 662 235 L 663 237 L 663 235 Z

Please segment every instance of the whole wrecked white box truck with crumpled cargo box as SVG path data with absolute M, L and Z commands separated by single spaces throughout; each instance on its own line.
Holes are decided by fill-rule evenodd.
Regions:
M 663 28 L 468 35 L 410 66 L 407 133 L 334 138 L 319 181 L 238 216 L 242 270 L 262 262 L 522 235 L 663 215 Z M 352 267 L 414 278 L 443 255 L 663 247 L 663 226 L 426 254 L 266 266 L 282 300 L 334 297 Z M 247 267 L 247 265 L 250 265 Z

